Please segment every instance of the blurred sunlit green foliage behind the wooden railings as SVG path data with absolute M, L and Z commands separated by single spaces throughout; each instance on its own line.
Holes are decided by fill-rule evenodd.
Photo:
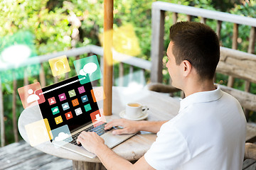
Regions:
M 114 1 L 114 30 L 132 25 L 137 36 L 140 53 L 136 57 L 144 60 L 150 59 L 151 51 L 151 4 L 152 0 L 115 0 Z M 256 1 L 241 0 L 171 0 L 174 4 L 195 6 L 214 11 L 235 13 L 242 16 L 256 18 Z M 0 1 L 0 54 L 6 47 L 14 44 L 26 44 L 31 47 L 31 57 L 46 55 L 48 53 L 70 50 L 74 47 L 85 45 L 99 45 L 100 33 L 103 33 L 103 0 L 2 0 Z M 179 15 L 178 21 L 186 21 L 186 16 Z M 193 21 L 199 21 L 193 18 Z M 169 43 L 169 27 L 172 25 L 171 13 L 166 13 L 164 49 Z M 215 30 L 216 23 L 207 21 L 208 26 Z M 221 45 L 232 47 L 233 24 L 223 23 L 221 30 Z M 240 26 L 242 33 L 238 38 L 238 49 L 247 51 L 248 35 L 250 28 Z M 86 57 L 83 56 L 83 57 Z M 71 57 L 69 76 L 75 75 Z M 0 58 L 1 62 L 1 58 Z M 2 61 L 3 62 L 3 61 Z M 166 60 L 163 60 L 165 65 Z M 118 77 L 117 66 L 114 66 L 114 75 Z M 31 69 L 33 72 L 36 66 Z M 43 64 L 46 72 L 46 84 L 53 84 L 53 76 L 48 63 Z M 124 72 L 129 72 L 129 66 L 125 66 Z M 136 69 L 134 70 L 136 71 Z M 2 91 L 4 94 L 4 120 L 6 127 L 7 144 L 14 142 L 12 130 L 12 96 L 13 82 L 4 79 L 9 75 L 8 70 L 1 72 Z M 18 73 L 17 73 L 18 74 Z M 169 74 L 166 68 L 163 71 L 164 83 L 168 84 Z M 32 74 L 36 75 L 36 73 Z M 16 75 L 17 77 L 17 75 Z M 33 83 L 38 76 L 29 77 L 29 83 Z M 217 75 L 217 82 L 226 84 L 227 76 Z M 149 82 L 149 72 L 146 72 L 146 82 Z M 23 86 L 23 80 L 18 81 L 18 87 Z M 243 89 L 244 82 L 235 79 L 235 88 Z M 251 92 L 256 94 L 256 85 L 252 84 Z M 17 97 L 17 117 L 23 111 L 21 101 Z M 256 120 L 256 114 L 251 113 L 250 120 Z

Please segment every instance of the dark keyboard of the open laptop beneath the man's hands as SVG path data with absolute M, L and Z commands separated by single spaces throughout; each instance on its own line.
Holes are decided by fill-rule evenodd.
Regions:
M 100 136 L 100 135 L 105 134 L 105 132 L 108 132 L 108 131 L 111 130 L 111 129 L 110 129 L 110 130 L 104 130 L 106 124 L 107 124 L 107 123 L 103 123 L 102 125 L 98 125 L 97 127 L 93 127 L 93 125 L 91 125 L 90 127 L 86 128 L 86 129 L 83 130 L 83 131 L 85 131 L 85 132 L 96 132 L 97 135 Z M 82 132 L 82 131 L 81 131 L 81 132 Z M 76 142 L 76 140 L 78 139 L 78 136 L 80 135 L 81 132 L 78 132 L 77 134 L 72 135 L 73 141 L 70 142 L 71 144 L 73 144 L 73 145 L 78 145 L 78 143 Z M 78 146 L 82 146 L 82 145 L 79 144 Z

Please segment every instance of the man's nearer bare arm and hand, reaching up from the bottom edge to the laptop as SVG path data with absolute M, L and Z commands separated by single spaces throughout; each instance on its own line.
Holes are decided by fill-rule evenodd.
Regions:
M 82 132 L 78 136 L 77 142 L 78 144 L 82 143 L 82 146 L 85 147 L 85 149 L 87 149 L 89 152 L 95 153 L 97 157 L 99 157 L 102 164 L 104 164 L 104 166 L 107 169 L 154 170 L 154 168 L 151 167 L 146 162 L 144 157 L 139 159 L 135 164 L 132 164 L 131 162 L 123 159 L 122 157 L 119 157 L 117 154 L 112 152 L 112 150 L 104 144 L 104 140 L 101 137 L 99 137 L 95 132 Z

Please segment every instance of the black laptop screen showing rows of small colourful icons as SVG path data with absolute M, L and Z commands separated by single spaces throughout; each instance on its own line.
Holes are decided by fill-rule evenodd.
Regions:
M 48 119 L 50 129 L 68 125 L 70 132 L 92 123 L 90 113 L 98 111 L 92 98 L 92 84 L 80 84 L 72 77 L 42 89 L 46 101 L 39 104 L 43 118 Z

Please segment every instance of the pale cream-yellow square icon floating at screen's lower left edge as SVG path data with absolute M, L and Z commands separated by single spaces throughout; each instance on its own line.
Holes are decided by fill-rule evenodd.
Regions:
M 47 119 L 25 125 L 25 130 L 32 147 L 52 139 Z

